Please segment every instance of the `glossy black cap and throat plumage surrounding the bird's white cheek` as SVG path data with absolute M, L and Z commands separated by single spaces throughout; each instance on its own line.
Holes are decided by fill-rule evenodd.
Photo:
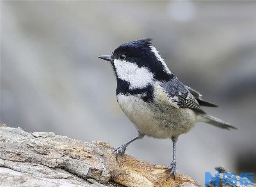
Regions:
M 120 55 L 122 56 L 122 54 L 124 54 L 125 61 L 134 63 L 139 68 L 143 66 L 146 67 L 150 72 L 153 73 L 156 81 L 168 82 L 174 77 L 174 75 L 165 71 L 164 65 L 161 61 L 159 61 L 156 54 L 152 51 L 151 41 L 151 38 L 147 38 L 122 44 L 114 50 L 113 58 L 114 60 L 119 59 Z M 116 68 L 113 62 L 112 66 L 116 75 Z M 152 102 L 154 88 L 151 84 L 144 88 L 130 89 L 130 83 L 125 80 L 121 80 L 117 75 L 116 81 L 116 94 L 141 94 L 141 97 L 145 102 Z

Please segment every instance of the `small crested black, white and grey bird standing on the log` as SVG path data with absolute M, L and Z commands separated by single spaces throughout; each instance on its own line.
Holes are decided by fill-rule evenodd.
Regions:
M 127 146 L 145 135 L 171 139 L 172 162 L 165 170 L 175 180 L 175 145 L 179 135 L 189 132 L 196 122 L 205 122 L 222 129 L 237 129 L 221 119 L 210 116 L 201 107 L 218 107 L 202 100 L 202 95 L 184 85 L 170 71 L 152 39 L 140 39 L 120 45 L 112 55 L 98 58 L 109 61 L 116 77 L 116 99 L 120 108 L 136 127 L 138 134 L 117 147 L 123 155 Z

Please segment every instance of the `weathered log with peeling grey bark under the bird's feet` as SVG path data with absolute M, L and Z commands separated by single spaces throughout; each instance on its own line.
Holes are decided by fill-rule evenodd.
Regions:
M 0 127 L 0 185 L 77 187 L 202 187 L 165 166 L 111 154 L 105 142 L 82 142 L 52 132 Z

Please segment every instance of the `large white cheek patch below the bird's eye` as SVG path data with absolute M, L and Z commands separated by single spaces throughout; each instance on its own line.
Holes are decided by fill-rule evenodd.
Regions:
M 130 89 L 145 88 L 154 82 L 154 74 L 148 68 L 128 61 L 114 60 L 118 78 L 130 83 Z

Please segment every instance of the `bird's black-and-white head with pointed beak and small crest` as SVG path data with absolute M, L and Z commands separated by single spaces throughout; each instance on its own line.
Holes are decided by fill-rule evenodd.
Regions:
M 110 61 L 116 78 L 127 82 L 130 89 L 141 89 L 156 81 L 168 81 L 172 73 L 151 41 L 141 39 L 127 42 L 116 48 L 112 55 L 99 58 Z

